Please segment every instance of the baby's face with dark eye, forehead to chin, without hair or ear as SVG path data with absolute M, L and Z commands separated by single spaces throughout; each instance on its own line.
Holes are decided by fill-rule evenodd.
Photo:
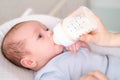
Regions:
M 36 21 L 21 25 L 15 31 L 14 39 L 24 40 L 25 49 L 30 52 L 31 59 L 41 66 L 63 51 L 63 46 L 53 42 L 53 32 Z

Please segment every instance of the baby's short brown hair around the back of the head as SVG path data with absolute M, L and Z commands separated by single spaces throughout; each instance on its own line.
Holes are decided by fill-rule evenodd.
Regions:
M 22 23 L 25 23 L 25 22 L 22 22 Z M 8 59 L 11 63 L 19 67 L 25 68 L 20 63 L 24 55 L 27 54 L 27 51 L 25 50 L 25 40 L 21 40 L 21 41 L 11 40 L 10 42 L 7 42 L 5 44 L 5 39 L 7 38 L 7 36 L 9 36 L 9 34 L 12 34 L 12 31 L 18 29 L 20 27 L 19 25 L 21 25 L 22 23 L 16 24 L 15 26 L 13 26 L 13 28 L 11 28 L 8 31 L 8 33 L 3 39 L 1 50 L 2 50 L 4 57 Z

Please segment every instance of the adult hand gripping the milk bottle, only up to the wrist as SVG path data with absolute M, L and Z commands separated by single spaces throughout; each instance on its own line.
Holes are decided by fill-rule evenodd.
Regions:
M 81 7 L 76 11 L 76 13 L 92 19 L 94 21 L 94 25 L 97 27 L 94 31 L 82 35 L 80 40 L 91 42 L 100 46 L 106 46 L 110 43 L 111 33 L 105 28 L 98 16 L 96 16 L 90 9 L 86 7 Z

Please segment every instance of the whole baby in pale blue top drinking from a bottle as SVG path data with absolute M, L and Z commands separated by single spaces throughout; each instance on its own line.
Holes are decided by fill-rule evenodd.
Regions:
M 79 80 L 92 70 L 100 70 L 110 80 L 120 79 L 120 59 L 84 48 L 78 50 L 86 47 L 81 41 L 67 47 L 73 52 L 78 50 L 76 54 L 64 51 L 64 46 L 54 43 L 52 30 L 39 21 L 39 16 L 18 18 L 11 23 L 3 36 L 3 55 L 17 66 L 36 71 L 35 80 Z

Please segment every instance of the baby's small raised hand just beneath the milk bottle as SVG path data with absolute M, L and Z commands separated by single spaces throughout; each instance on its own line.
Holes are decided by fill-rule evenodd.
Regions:
M 66 50 L 71 51 L 72 53 L 76 53 L 80 49 L 80 47 L 88 48 L 90 50 L 89 45 L 80 40 L 70 46 L 65 47 L 65 48 L 66 48 Z

